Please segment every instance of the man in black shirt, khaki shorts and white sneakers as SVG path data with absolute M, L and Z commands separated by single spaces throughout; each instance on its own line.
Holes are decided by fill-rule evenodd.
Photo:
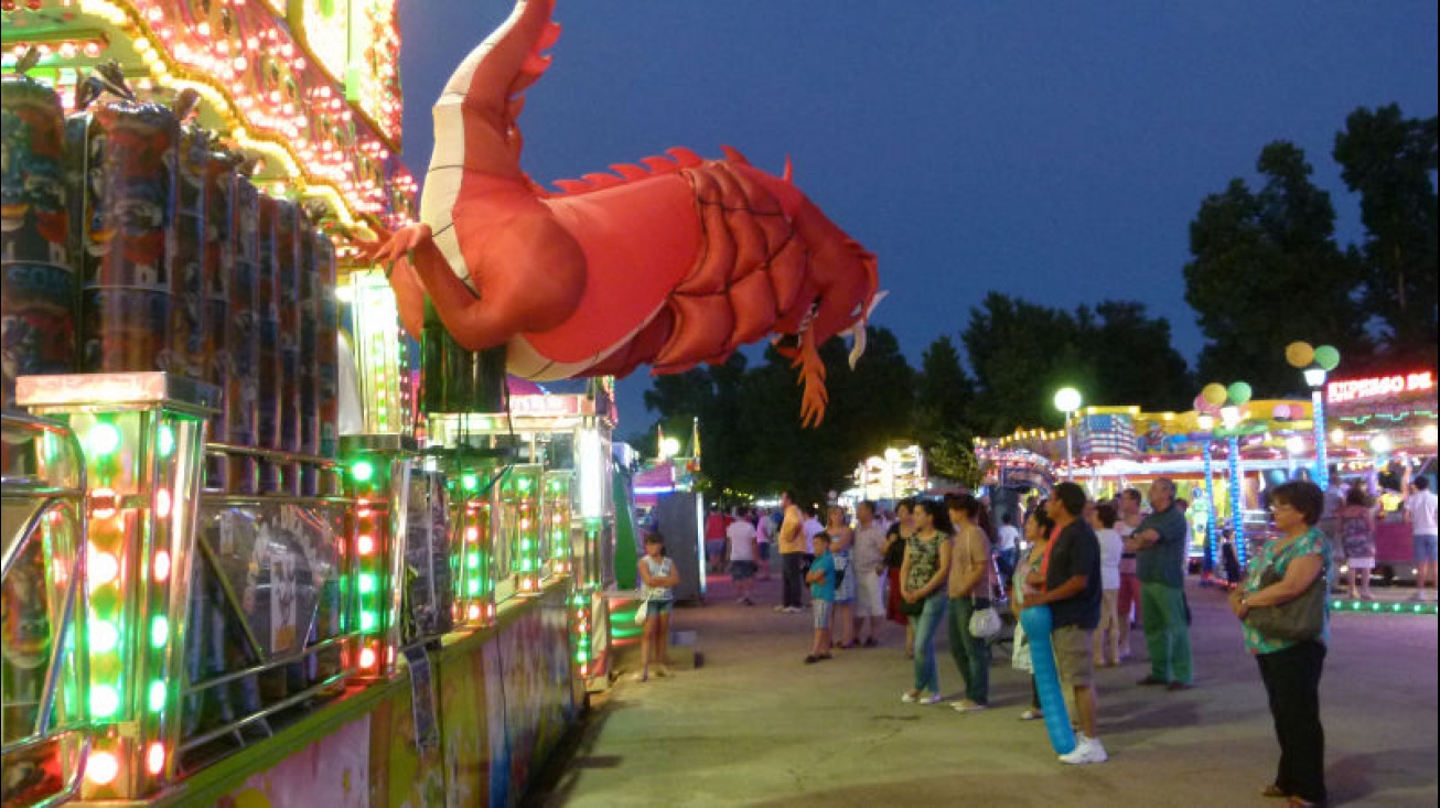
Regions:
M 1099 704 L 1094 694 L 1093 634 L 1100 622 L 1100 542 L 1080 513 L 1084 488 L 1074 482 L 1056 485 L 1045 504 L 1058 533 L 1041 559 L 1044 591 L 1025 608 L 1050 606 L 1050 642 L 1056 651 L 1060 687 L 1074 696 L 1080 726 L 1076 748 L 1060 756 L 1063 763 L 1103 763 L 1109 759 L 1096 733 Z

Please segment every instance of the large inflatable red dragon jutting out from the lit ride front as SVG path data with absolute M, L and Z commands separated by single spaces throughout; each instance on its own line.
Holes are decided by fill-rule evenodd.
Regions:
M 456 341 L 505 346 L 508 370 L 536 380 L 677 373 L 773 333 L 799 369 L 802 422 L 819 423 L 818 347 L 854 331 L 852 362 L 864 350 L 876 256 L 791 183 L 788 161 L 776 177 L 729 147 L 726 160 L 672 148 L 559 194 L 533 183 L 516 121 L 550 65 L 553 7 L 518 0 L 435 104 L 420 223 L 373 251 L 406 330 L 420 333 L 429 295 Z

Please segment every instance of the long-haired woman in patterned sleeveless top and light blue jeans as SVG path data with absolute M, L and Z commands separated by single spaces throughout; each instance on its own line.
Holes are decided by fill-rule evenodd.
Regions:
M 935 665 L 935 634 L 945 622 L 945 582 L 950 575 L 950 514 L 933 500 L 914 508 L 914 536 L 906 542 L 900 566 L 900 596 L 907 603 L 924 603 L 914 627 L 914 687 L 900 700 L 935 704 L 940 700 L 940 671 Z M 926 690 L 930 691 L 926 696 Z

